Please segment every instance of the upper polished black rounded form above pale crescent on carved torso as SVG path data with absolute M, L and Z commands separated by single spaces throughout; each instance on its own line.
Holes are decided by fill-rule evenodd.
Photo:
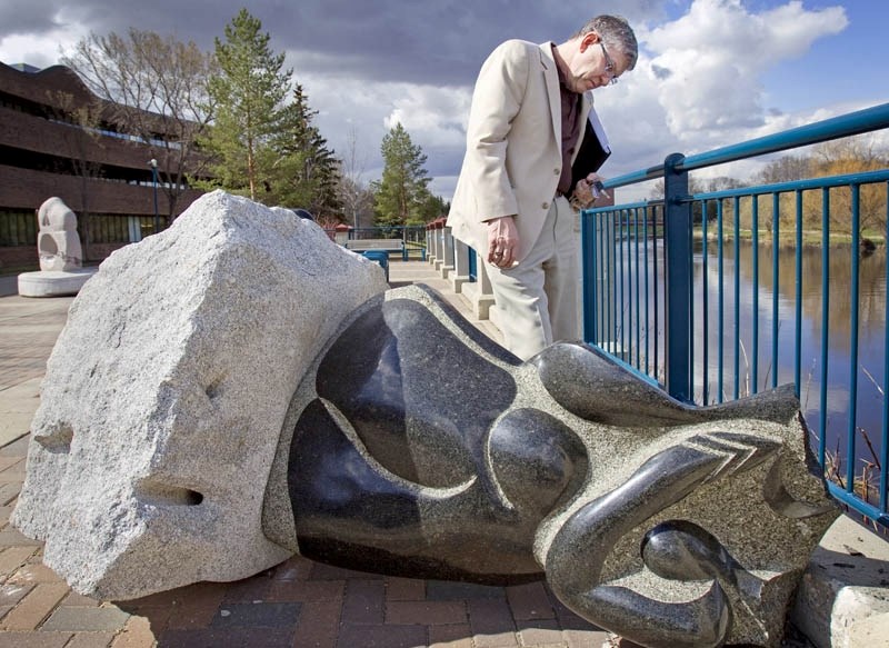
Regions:
M 487 386 L 481 407 L 478 385 Z M 423 486 L 456 486 L 483 470 L 483 443 L 516 397 L 507 371 L 475 353 L 416 301 L 382 301 L 333 343 L 318 368 L 368 453 Z

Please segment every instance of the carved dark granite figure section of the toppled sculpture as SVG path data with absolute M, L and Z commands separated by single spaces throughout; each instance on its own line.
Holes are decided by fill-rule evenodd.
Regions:
M 263 528 L 342 567 L 546 577 L 649 647 L 778 646 L 839 512 L 798 409 L 790 388 L 689 408 L 582 345 L 522 363 L 433 293 L 391 290 L 297 390 Z

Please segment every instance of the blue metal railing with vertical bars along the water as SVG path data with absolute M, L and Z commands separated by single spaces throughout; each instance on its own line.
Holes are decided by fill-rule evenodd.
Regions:
M 752 386 L 748 392 L 756 393 L 760 380 L 763 379 L 761 355 L 762 360 L 768 362 L 765 366 L 762 387 L 778 385 L 779 347 L 787 335 L 781 331 L 780 243 L 782 231 L 790 229 L 790 240 L 797 250 L 793 265 L 796 287 L 792 300 L 788 298 L 786 301 L 793 302 L 792 380 L 797 396 L 800 395 L 802 381 L 802 287 L 803 282 L 819 280 L 822 295 L 820 357 L 817 359 L 820 390 L 817 416 L 810 420 L 817 420 L 818 458 L 822 466 L 833 463 L 832 470 L 839 483 L 830 482 L 830 489 L 838 499 L 883 527 L 889 527 L 889 398 L 870 375 L 868 378 L 873 380 L 882 398 L 881 447 L 875 451 L 867 432 L 863 432 L 865 441 L 872 452 L 871 468 L 876 465 L 880 475 L 876 489 L 879 502 L 877 506 L 869 501 L 875 495 L 869 482 L 865 480 L 862 490 L 862 479 L 856 477 L 856 466 L 861 460 L 857 452 L 860 448 L 857 441 L 858 435 L 862 432 L 857 425 L 861 200 L 866 188 L 872 191 L 869 188 L 876 187 L 878 191 L 883 191 L 882 196 L 889 193 L 889 169 L 696 195 L 689 195 L 688 182 L 688 173 L 692 170 L 885 128 L 889 128 L 889 103 L 695 156 L 675 153 L 663 165 L 607 181 L 606 188 L 613 189 L 662 177 L 665 197 L 662 201 L 641 201 L 585 210 L 581 216 L 581 246 L 586 340 L 611 353 L 640 376 L 663 385 L 671 396 L 689 402 L 697 400 L 710 403 L 722 402 L 726 398 L 737 399 L 743 395 L 741 358 L 745 358 L 747 365 L 746 380 Z M 845 433 L 845 469 L 843 457 L 839 451 L 830 456 L 827 450 L 827 432 L 830 427 L 828 383 L 831 356 L 831 198 L 836 191 L 848 193 L 849 197 L 847 215 L 853 251 L 850 255 L 848 286 L 851 300 L 850 335 L 848 340 L 843 340 L 843 345 L 848 343 L 849 356 L 849 377 L 845 388 L 850 393 Z M 821 228 L 818 235 L 822 271 L 820 278 L 813 279 L 803 276 L 803 212 L 811 218 L 812 202 L 818 202 L 819 199 Z M 889 223 L 889 200 L 882 200 L 882 209 L 887 211 L 883 220 Z M 765 216 L 760 212 L 765 212 Z M 731 222 L 728 222 L 729 218 Z M 833 218 L 836 219 L 836 215 Z M 745 235 L 751 239 L 749 267 L 745 268 L 752 275 L 750 303 L 741 302 L 742 219 L 749 220 L 749 228 L 743 229 Z M 698 240 L 693 236 L 696 220 L 699 221 L 700 229 Z M 762 220 L 770 220 L 770 232 L 768 229 L 765 233 L 761 230 Z M 889 241 L 889 225 L 886 228 L 883 236 Z M 806 232 L 809 233 L 808 230 Z M 770 265 L 761 263 L 760 248 L 766 247 L 771 247 Z M 710 266 L 711 255 L 716 257 L 716 268 Z M 727 255 L 733 263 L 733 287 L 725 286 Z M 885 266 L 885 281 L 889 287 L 889 262 Z M 763 272 L 771 273 L 770 287 L 760 287 L 760 275 Z M 717 279 L 710 279 L 712 275 Z M 733 296 L 730 295 L 732 288 Z M 729 300 L 727 292 L 732 297 Z M 886 328 L 885 323 L 889 322 L 889 306 L 883 306 L 883 311 Z M 716 321 L 712 322 L 711 319 Z M 731 335 L 731 330 L 726 330 L 727 320 L 731 320 L 730 329 L 733 329 L 732 343 L 728 343 L 730 340 L 727 339 Z M 749 356 L 740 332 L 745 326 L 750 328 L 747 338 L 751 342 Z M 760 337 L 769 339 L 770 350 L 760 350 Z M 885 332 L 883 337 L 882 379 L 883 386 L 889 386 L 889 332 Z M 733 358 L 733 375 L 729 376 L 726 371 L 727 349 Z M 715 390 L 711 390 L 712 373 L 716 375 Z

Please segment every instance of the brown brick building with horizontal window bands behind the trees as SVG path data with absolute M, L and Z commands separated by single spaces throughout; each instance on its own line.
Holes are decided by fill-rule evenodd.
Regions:
M 34 210 L 52 196 L 77 213 L 88 260 L 152 233 L 156 216 L 166 227 L 163 119 L 152 116 L 158 139 L 146 142 L 119 124 L 117 108 L 66 67 L 0 62 L 0 272 L 37 266 Z M 152 159 L 160 165 L 158 185 Z M 173 216 L 201 193 L 181 189 Z

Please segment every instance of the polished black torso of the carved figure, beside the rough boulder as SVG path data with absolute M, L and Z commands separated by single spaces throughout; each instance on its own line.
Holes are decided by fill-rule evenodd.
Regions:
M 541 578 L 531 546 L 549 509 L 513 507 L 487 462 L 489 431 L 516 397 L 516 381 L 466 351 L 409 300 L 380 300 L 331 346 L 318 368 L 319 398 L 302 412 L 291 443 L 289 488 L 303 555 L 414 577 Z M 485 402 L 468 407 L 479 383 L 487 386 Z M 517 411 L 498 425 L 498 457 L 508 471 L 521 469 L 511 421 L 541 431 L 561 426 L 545 417 Z M 570 430 L 562 437 L 571 442 Z M 557 468 L 545 498 L 555 501 L 565 490 L 572 461 Z

